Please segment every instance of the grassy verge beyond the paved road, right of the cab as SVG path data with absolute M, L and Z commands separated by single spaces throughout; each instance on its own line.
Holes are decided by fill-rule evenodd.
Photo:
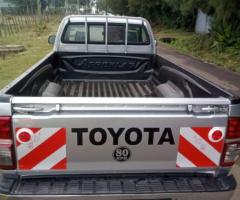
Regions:
M 154 28 L 159 43 L 177 49 L 181 53 L 197 57 L 205 62 L 217 64 L 231 71 L 240 73 L 240 53 L 233 48 L 218 52 L 209 48 L 207 36 L 181 30 L 159 30 Z M 161 38 L 175 38 L 170 43 L 163 43 Z

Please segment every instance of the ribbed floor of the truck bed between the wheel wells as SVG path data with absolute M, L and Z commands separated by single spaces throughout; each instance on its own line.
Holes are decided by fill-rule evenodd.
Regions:
M 152 81 L 63 81 L 64 94 L 70 97 L 156 97 Z

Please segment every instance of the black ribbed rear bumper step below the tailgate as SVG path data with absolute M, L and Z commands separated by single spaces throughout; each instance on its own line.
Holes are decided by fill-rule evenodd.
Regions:
M 229 200 L 235 188 L 233 176 L 205 174 L 4 177 L 0 200 Z

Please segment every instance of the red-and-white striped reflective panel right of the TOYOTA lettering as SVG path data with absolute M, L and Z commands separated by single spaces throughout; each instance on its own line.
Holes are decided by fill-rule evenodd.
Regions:
M 225 132 L 225 127 L 181 128 L 177 167 L 218 166 L 224 146 Z M 214 133 L 216 133 L 215 136 Z

